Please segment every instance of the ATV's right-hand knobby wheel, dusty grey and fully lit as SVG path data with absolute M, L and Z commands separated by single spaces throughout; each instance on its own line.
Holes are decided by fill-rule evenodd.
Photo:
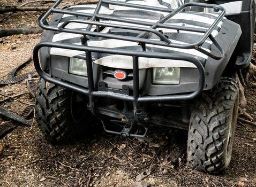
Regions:
M 187 158 L 192 168 L 216 174 L 228 167 L 238 104 L 238 85 L 227 77 L 196 100 L 191 111 L 187 141 Z

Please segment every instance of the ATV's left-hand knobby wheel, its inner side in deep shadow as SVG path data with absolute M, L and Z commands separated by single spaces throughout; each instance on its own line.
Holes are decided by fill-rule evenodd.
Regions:
M 92 122 L 86 97 L 40 78 L 35 116 L 42 134 L 52 143 L 67 144 L 84 135 Z

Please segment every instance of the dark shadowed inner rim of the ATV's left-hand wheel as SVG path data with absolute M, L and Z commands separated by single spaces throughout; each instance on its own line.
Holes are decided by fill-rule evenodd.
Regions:
M 81 100 L 78 100 L 77 97 L 79 93 L 72 91 L 71 93 L 71 117 L 75 123 L 80 123 L 84 119 L 87 113 L 87 101 L 84 97 L 81 97 Z

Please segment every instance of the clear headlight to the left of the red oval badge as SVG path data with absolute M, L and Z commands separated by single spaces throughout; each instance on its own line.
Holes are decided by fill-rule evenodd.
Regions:
M 86 60 L 70 57 L 69 73 L 87 76 Z

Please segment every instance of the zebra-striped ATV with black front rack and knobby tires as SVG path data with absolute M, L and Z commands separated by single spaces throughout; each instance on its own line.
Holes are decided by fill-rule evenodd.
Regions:
M 39 18 L 45 31 L 33 52 L 43 135 L 69 143 L 95 119 L 123 136 L 185 129 L 189 165 L 223 172 L 237 122 L 234 74 L 252 56 L 254 1 L 61 2 Z

